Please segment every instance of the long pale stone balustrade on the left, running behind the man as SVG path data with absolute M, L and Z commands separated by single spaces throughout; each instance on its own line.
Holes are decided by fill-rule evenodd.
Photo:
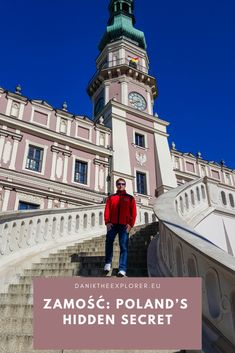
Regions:
M 104 206 L 0 213 L 0 289 L 51 251 L 105 234 Z M 137 206 L 136 225 L 154 220 L 151 207 Z

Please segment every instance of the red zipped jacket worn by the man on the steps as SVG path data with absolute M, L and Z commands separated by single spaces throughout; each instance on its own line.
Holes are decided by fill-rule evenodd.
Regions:
M 135 198 L 125 190 L 110 195 L 105 205 L 104 220 L 105 224 L 129 224 L 133 227 L 136 220 Z

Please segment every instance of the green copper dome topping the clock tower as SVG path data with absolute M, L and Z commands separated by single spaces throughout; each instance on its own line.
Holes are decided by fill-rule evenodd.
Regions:
M 134 27 L 134 0 L 111 0 L 109 12 L 108 26 L 98 46 L 100 51 L 120 37 L 136 42 L 142 49 L 147 48 L 144 33 Z

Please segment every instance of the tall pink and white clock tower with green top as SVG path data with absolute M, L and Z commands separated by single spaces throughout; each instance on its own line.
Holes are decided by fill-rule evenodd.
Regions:
M 94 121 L 102 117 L 112 129 L 112 191 L 123 177 L 137 201 L 151 206 L 157 195 L 176 187 L 168 123 L 153 116 L 156 79 L 149 74 L 145 35 L 135 28 L 134 0 L 111 0 L 109 13 L 87 92 Z

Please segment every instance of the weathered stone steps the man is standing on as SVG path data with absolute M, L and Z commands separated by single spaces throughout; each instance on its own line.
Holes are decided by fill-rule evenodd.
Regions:
M 147 248 L 157 232 L 157 223 L 132 229 L 129 240 L 129 264 L 127 275 L 146 277 Z M 68 246 L 33 263 L 19 275 L 17 283 L 8 286 L 7 293 L 0 294 L 0 353 L 39 353 L 33 349 L 33 288 L 32 278 L 52 276 L 93 276 L 103 274 L 105 235 Z M 118 236 L 114 243 L 114 256 L 110 276 L 118 271 Z M 90 353 L 89 350 L 43 350 L 44 353 Z M 92 351 L 95 352 L 95 351 Z M 97 351 L 101 352 L 101 351 Z M 125 352 L 109 350 L 105 352 Z M 140 351 L 128 351 L 140 352 Z M 173 351 L 145 351 L 173 353 Z M 176 351 L 174 351 L 176 352 Z

